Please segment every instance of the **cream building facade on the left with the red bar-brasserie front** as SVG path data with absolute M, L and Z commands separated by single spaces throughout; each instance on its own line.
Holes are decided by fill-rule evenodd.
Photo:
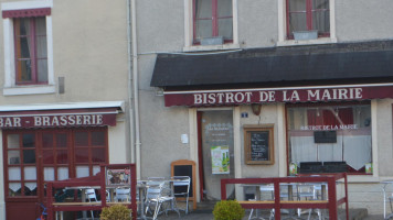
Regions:
M 36 219 L 47 180 L 130 163 L 126 9 L 0 1 L 0 219 Z

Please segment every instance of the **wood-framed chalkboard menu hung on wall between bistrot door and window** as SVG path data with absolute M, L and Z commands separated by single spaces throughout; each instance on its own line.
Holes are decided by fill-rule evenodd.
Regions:
M 274 164 L 273 128 L 244 128 L 246 164 Z

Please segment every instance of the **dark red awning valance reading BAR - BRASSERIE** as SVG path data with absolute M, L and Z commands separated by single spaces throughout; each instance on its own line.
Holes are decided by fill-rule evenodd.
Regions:
M 116 125 L 116 114 L 1 116 L 0 129 Z

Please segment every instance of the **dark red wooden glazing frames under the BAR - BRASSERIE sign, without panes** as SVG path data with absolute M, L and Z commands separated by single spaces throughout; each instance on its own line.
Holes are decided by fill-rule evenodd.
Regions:
M 108 129 L 107 127 L 99 127 L 99 128 L 84 128 L 84 129 L 45 129 L 45 130 L 33 130 L 33 129 L 29 129 L 29 130 L 3 130 L 3 170 L 4 170 L 4 197 L 6 197 L 6 201 L 44 201 L 44 168 L 45 167 L 54 167 L 54 179 L 59 180 L 57 177 L 57 168 L 59 167 L 68 167 L 68 177 L 70 178 L 74 178 L 76 177 L 76 166 L 78 165 L 78 163 L 76 163 L 75 161 L 75 133 L 76 132 L 87 132 L 88 133 L 88 155 L 87 157 L 89 158 L 87 163 L 84 163 L 83 165 L 87 165 L 88 166 L 88 175 L 93 176 L 93 168 L 94 166 L 99 166 L 100 164 L 107 164 L 109 162 L 109 156 L 108 156 Z M 94 144 L 92 141 L 92 133 L 94 132 L 102 132 L 103 136 L 100 138 L 100 140 L 104 140 L 103 142 L 100 142 L 102 144 Z M 20 146 L 19 147 L 13 147 L 13 148 L 9 148 L 8 147 L 8 135 L 10 134 L 19 134 L 19 143 Z M 23 162 L 23 152 L 20 153 L 20 162 L 19 164 L 9 164 L 9 158 L 8 158 L 8 152 L 9 151 L 23 151 L 22 147 L 22 136 L 23 134 L 32 134 L 34 136 L 34 146 L 33 147 L 29 147 L 28 150 L 34 150 L 35 151 L 35 163 L 34 164 L 22 164 Z M 67 155 L 67 163 L 59 163 L 59 148 L 56 150 L 55 143 L 53 144 L 47 144 L 47 147 L 44 147 L 44 140 L 43 140 L 43 135 L 44 134 L 67 134 L 67 141 L 66 141 L 66 150 L 68 152 Z M 55 139 L 53 139 L 55 142 Z M 94 162 L 93 160 L 93 150 L 94 148 L 102 148 L 104 152 L 103 162 Z M 25 148 L 24 148 L 25 150 Z M 52 152 L 52 156 L 53 156 L 53 163 L 44 163 L 44 155 L 43 152 L 44 151 L 49 151 L 49 150 L 53 150 Z M 63 151 L 63 148 L 61 150 Z M 46 155 L 51 155 L 46 154 Z M 47 157 L 46 157 L 47 160 Z M 52 161 L 52 160 L 51 160 Z M 25 166 L 35 166 L 36 167 L 36 179 L 35 180 L 24 180 L 24 176 L 23 176 L 23 168 Z M 9 180 L 9 167 L 21 167 L 21 180 Z M 24 183 L 29 183 L 29 182 L 36 182 L 36 195 L 33 196 L 25 196 L 23 195 L 23 190 L 24 190 Z M 10 196 L 9 195 L 9 184 L 10 183 L 21 183 L 21 190 L 22 190 L 22 195 L 21 196 Z

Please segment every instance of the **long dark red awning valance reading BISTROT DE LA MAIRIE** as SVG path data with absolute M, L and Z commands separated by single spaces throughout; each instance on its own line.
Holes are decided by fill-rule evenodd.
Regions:
M 299 89 L 245 89 L 164 92 L 166 107 L 236 106 L 270 102 L 349 101 L 393 98 L 393 86 L 321 87 Z

